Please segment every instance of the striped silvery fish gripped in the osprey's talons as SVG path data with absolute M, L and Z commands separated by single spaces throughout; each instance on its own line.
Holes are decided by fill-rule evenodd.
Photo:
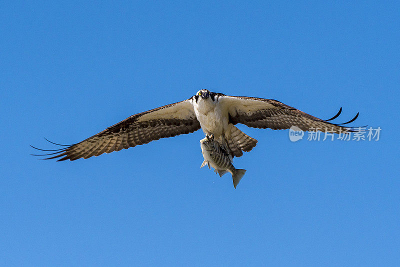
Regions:
M 233 186 L 236 188 L 246 170 L 236 169 L 233 166 L 233 158 L 230 152 L 222 144 L 214 140 L 213 135 L 206 135 L 203 139 L 201 139 L 200 147 L 201 153 L 204 157 L 204 161 L 200 168 L 204 167 L 205 165 L 207 165 L 209 169 L 213 167 L 215 169 L 215 173 L 219 174 L 219 177 L 222 177 L 223 174 L 229 172 L 232 174 Z

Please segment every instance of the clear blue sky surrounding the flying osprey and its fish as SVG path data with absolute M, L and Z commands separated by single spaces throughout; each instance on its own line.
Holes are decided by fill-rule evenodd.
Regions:
M 244 2 L 244 1 L 243 1 Z M 395 2 L 1 1 L 0 264 L 397 265 Z M 378 141 L 240 127 L 236 189 L 201 131 L 89 159 L 75 143 L 201 88 L 273 98 Z

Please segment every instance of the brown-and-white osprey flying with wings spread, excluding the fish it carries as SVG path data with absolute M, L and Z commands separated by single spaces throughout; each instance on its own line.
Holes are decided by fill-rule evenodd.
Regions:
M 288 129 L 297 126 L 302 130 L 327 128 L 335 133 L 351 131 L 351 127 L 328 122 L 340 112 L 341 108 L 334 117 L 322 120 L 277 100 L 230 96 L 202 89 L 189 99 L 131 115 L 83 141 L 65 145 L 64 148 L 33 148 L 56 151 L 42 154 L 54 155 L 45 159 L 60 157 L 57 161 L 75 160 L 119 151 L 163 137 L 190 133 L 201 128 L 205 134 L 213 135 L 232 156 L 238 157 L 243 154 L 242 151 L 250 151 L 257 140 L 239 130 L 235 126 L 237 123 L 254 128 Z M 346 123 L 355 120 L 357 116 L 358 113 Z

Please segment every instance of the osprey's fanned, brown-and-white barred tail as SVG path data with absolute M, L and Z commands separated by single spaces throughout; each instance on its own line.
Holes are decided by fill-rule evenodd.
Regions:
M 248 136 L 239 130 L 233 124 L 230 124 L 230 134 L 226 138 L 232 156 L 242 156 L 243 151 L 250 151 L 256 144 L 257 140 Z

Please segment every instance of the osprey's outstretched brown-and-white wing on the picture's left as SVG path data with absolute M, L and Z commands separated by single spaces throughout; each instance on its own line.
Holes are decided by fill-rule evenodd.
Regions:
M 46 159 L 61 157 L 58 159 L 61 161 L 98 156 L 199 128 L 200 123 L 189 98 L 134 114 L 81 142 L 58 149 L 58 152 L 52 153 L 56 155 Z

